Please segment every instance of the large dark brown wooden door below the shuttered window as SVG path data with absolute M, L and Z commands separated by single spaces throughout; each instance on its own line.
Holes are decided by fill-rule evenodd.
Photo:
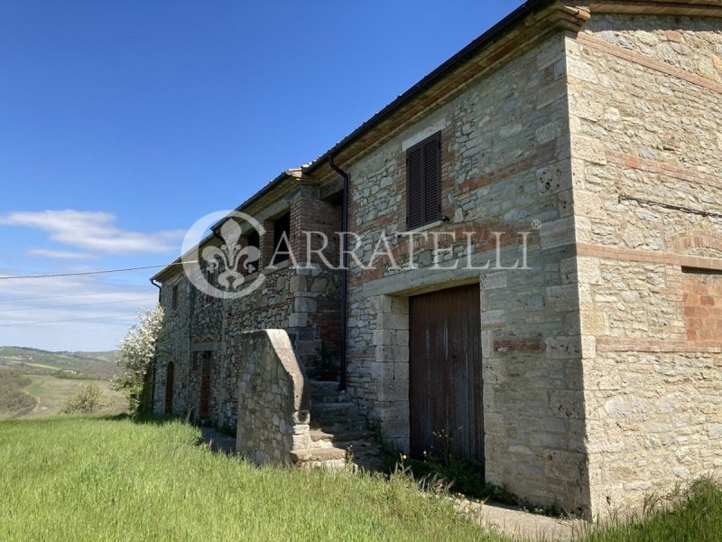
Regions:
M 411 452 L 483 464 L 479 286 L 414 296 L 409 310 Z

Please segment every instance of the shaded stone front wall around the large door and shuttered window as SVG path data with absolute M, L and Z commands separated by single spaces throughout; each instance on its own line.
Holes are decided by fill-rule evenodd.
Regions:
M 348 168 L 349 223 L 364 234 L 364 263 L 382 232 L 406 229 L 404 150 L 435 131 L 449 221 L 413 241 L 418 269 L 393 269 L 387 256 L 371 270 L 352 264 L 348 393 L 408 449 L 408 297 L 480 283 L 486 478 L 533 502 L 588 509 L 562 33 Z M 521 232 L 529 268 L 510 270 L 523 266 Z M 458 239 L 440 243 L 438 266 L 457 269 L 433 268 L 433 234 Z M 408 237 L 390 249 L 398 266 L 408 265 Z M 464 269 L 467 257 L 491 264 Z

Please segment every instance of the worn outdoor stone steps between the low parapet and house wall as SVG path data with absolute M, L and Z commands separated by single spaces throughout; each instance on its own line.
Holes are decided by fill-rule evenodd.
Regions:
M 347 467 L 376 471 L 384 467 L 381 446 L 369 431 L 356 404 L 338 391 L 338 382 L 309 380 L 310 437 L 313 447 L 292 452 L 301 467 L 342 470 Z

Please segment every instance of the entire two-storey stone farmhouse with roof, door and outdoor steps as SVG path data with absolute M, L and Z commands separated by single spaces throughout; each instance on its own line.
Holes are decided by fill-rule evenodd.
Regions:
M 259 463 L 446 438 L 587 517 L 720 472 L 722 3 L 531 0 L 237 210 L 198 249 L 253 292 L 153 277 L 156 412 Z

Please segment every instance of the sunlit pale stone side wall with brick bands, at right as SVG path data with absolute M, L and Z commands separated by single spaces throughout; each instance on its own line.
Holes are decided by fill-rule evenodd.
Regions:
M 595 511 L 722 465 L 722 23 L 594 14 L 567 40 Z M 717 390 L 717 391 L 716 391 Z

